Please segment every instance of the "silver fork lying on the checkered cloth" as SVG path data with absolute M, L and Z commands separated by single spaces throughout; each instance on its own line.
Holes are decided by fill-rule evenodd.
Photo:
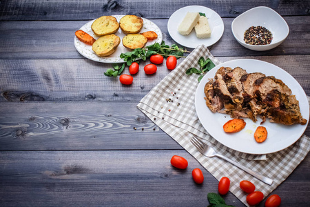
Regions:
M 229 161 L 231 164 L 234 164 L 238 168 L 245 170 L 245 172 L 248 172 L 249 174 L 253 175 L 257 179 L 260 179 L 265 184 L 268 184 L 271 186 L 271 184 L 273 183 L 273 180 L 270 179 L 269 177 L 262 176 L 262 175 L 258 174 L 258 172 L 255 172 L 249 168 L 246 168 L 245 166 L 238 164 L 238 162 L 216 153 L 216 151 L 214 151 L 213 148 L 211 148 L 210 146 L 207 146 L 207 144 L 205 144 L 203 141 L 201 141 L 198 137 L 193 136 L 193 138 L 191 139 L 191 142 L 198 149 L 198 151 L 200 153 L 202 153 L 203 155 L 205 155 L 206 157 L 214 157 L 214 156 L 220 157 L 222 159 L 225 159 L 226 161 Z

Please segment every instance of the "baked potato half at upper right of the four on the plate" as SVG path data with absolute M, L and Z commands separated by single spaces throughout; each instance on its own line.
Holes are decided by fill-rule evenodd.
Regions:
M 125 15 L 119 21 L 119 26 L 125 34 L 136 34 L 143 27 L 143 19 L 135 15 Z

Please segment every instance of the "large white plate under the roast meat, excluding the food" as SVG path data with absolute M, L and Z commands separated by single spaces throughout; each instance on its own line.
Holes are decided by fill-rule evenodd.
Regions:
M 220 67 L 229 67 L 233 69 L 240 67 L 246 70 L 247 73 L 261 72 L 266 76 L 273 76 L 276 77 L 276 79 L 282 80 L 291 89 L 291 95 L 295 95 L 296 99 L 299 101 L 302 118 L 307 119 L 307 124 L 309 122 L 309 102 L 307 95 L 296 79 L 285 70 L 271 63 L 254 59 L 237 59 L 221 63 L 207 72 L 196 90 L 195 106 L 198 118 L 212 137 L 231 149 L 255 155 L 278 152 L 298 141 L 304 133 L 304 130 L 306 130 L 307 124 L 293 124 L 288 126 L 271 123 L 269 121 L 270 119 L 266 119 L 263 124 L 260 124 L 262 121 L 260 117 L 258 117 L 258 121 L 256 122 L 249 118 L 244 118 L 246 126 L 240 132 L 224 132 L 223 125 L 232 118 L 227 114 L 211 112 L 206 105 L 204 92 L 205 84 L 209 79 L 214 79 Z M 267 139 L 262 143 L 258 143 L 254 139 L 254 132 L 258 126 L 265 126 L 268 132 Z

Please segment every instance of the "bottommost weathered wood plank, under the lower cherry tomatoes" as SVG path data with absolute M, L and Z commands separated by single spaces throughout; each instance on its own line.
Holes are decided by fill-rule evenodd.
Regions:
M 171 166 L 173 155 L 189 161 L 187 170 Z M 0 152 L 0 164 L 1 206 L 207 206 L 218 188 L 185 150 Z M 273 191 L 283 206 L 307 203 L 309 167 L 308 155 Z M 203 185 L 194 184 L 194 168 L 203 170 Z M 224 198 L 244 206 L 231 193 Z

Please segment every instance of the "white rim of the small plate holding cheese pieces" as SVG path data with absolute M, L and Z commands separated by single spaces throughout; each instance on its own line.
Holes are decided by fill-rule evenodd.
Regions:
M 207 10 L 211 10 L 211 12 L 213 12 L 212 14 L 215 14 L 215 15 L 217 15 L 218 17 L 220 17 L 220 15 L 216 12 L 216 11 L 214 11 L 214 10 L 212 10 L 211 8 L 208 8 L 208 7 L 206 7 L 206 6 L 198 6 L 198 5 L 192 5 L 192 6 L 185 6 L 185 7 L 183 7 L 183 8 L 179 8 L 178 10 L 176 10 L 174 13 L 172 13 L 172 15 L 169 17 L 169 19 L 168 19 L 168 23 L 167 23 L 167 29 L 168 29 L 168 33 L 169 33 L 169 35 L 170 35 L 170 37 L 172 37 L 172 39 L 174 39 L 174 41 L 176 41 L 176 43 L 178 43 L 178 44 L 180 44 L 181 46 L 185 46 L 186 48 L 196 48 L 197 46 L 199 46 L 199 45 L 205 45 L 206 47 L 209 47 L 209 46 L 212 46 L 212 45 L 214 45 L 215 43 L 217 43 L 219 40 L 220 40 L 220 38 L 221 37 L 223 37 L 223 34 L 224 34 L 224 30 L 225 30 L 225 25 L 224 25 L 224 21 L 223 21 L 223 19 L 222 19 L 222 17 L 220 17 L 220 26 L 221 26 L 221 34 L 220 35 L 218 35 L 218 37 L 216 38 L 216 40 L 215 41 L 212 41 L 211 43 L 206 43 L 206 42 L 203 42 L 203 43 L 197 43 L 197 44 L 195 44 L 194 46 L 191 46 L 191 45 L 187 45 L 186 43 L 182 43 L 182 42 L 180 42 L 180 41 L 177 41 L 176 40 L 176 37 L 174 37 L 174 34 L 173 34 L 173 32 L 171 32 L 171 19 L 172 19 L 172 17 L 174 17 L 174 15 L 176 15 L 176 14 L 178 14 L 178 12 L 180 12 L 180 10 L 186 10 L 186 9 L 188 9 L 188 8 L 202 8 L 202 9 L 207 9 Z M 174 28 L 174 30 L 176 30 L 176 28 Z M 200 39 L 198 39 L 198 41 L 199 41 Z M 207 39 L 201 39 L 201 41 L 206 41 Z

